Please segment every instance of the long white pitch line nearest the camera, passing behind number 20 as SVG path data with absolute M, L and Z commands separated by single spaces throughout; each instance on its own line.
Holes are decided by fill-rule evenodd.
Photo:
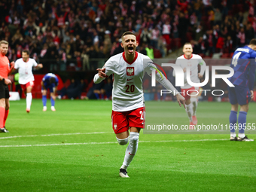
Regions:
M 200 140 L 169 140 L 169 141 L 153 141 L 153 142 L 212 142 L 212 141 L 227 141 L 229 139 L 200 139 Z M 151 142 L 151 141 L 141 141 Z M 0 145 L 0 148 L 21 148 L 21 147 L 46 147 L 58 145 L 96 145 L 96 144 L 117 144 L 117 142 L 82 142 L 82 143 L 53 143 L 53 144 L 40 144 L 40 145 Z

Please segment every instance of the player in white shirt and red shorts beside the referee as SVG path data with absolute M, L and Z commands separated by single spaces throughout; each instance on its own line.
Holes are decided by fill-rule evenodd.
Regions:
M 40 69 L 43 65 L 35 62 L 35 59 L 29 58 L 29 50 L 23 50 L 22 58 L 17 59 L 14 69 L 19 69 L 19 84 L 26 95 L 26 112 L 29 113 L 32 102 L 32 88 L 34 86 L 34 75 L 32 67 Z

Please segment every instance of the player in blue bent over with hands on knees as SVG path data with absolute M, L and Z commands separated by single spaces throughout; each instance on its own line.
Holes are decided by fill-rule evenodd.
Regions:
M 41 81 L 41 91 L 42 91 L 42 101 L 43 101 L 43 111 L 47 110 L 46 102 L 47 102 L 47 89 L 50 90 L 50 103 L 51 111 L 56 111 L 55 109 L 55 99 L 56 99 L 56 87 L 59 84 L 59 79 L 53 73 L 47 73 L 44 75 L 44 78 Z

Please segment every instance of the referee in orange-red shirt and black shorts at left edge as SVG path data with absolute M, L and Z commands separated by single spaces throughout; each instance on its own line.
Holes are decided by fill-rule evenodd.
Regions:
M 5 129 L 10 108 L 8 84 L 11 84 L 11 80 L 8 75 L 14 68 L 14 62 L 11 62 L 10 68 L 9 59 L 5 56 L 8 53 L 8 45 L 8 41 L 0 41 L 0 133 L 9 132 Z

